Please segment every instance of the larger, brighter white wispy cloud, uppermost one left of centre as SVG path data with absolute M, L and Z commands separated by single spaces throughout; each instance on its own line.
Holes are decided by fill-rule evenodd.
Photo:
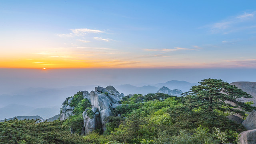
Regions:
M 60 37 L 74 37 L 74 36 L 84 36 L 87 33 L 95 33 L 95 34 L 100 34 L 100 33 L 105 33 L 102 30 L 92 30 L 88 28 L 80 28 L 80 29 L 70 29 L 72 32 L 69 34 L 57 34 Z

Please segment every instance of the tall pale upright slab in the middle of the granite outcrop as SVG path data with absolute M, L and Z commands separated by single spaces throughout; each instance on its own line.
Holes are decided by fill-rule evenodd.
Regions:
M 110 99 L 105 94 L 98 94 L 95 91 L 91 91 L 90 96 L 92 108 L 98 108 L 98 111 L 100 113 L 100 123 L 104 132 L 106 130 L 106 123 L 108 122 L 108 117 L 113 116 L 112 112 L 114 112 L 111 106 Z

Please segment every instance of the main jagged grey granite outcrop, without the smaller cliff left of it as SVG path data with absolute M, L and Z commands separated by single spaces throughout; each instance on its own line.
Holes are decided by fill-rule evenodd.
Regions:
M 95 88 L 95 91 L 90 92 L 92 112 L 88 109 L 83 112 L 84 134 L 92 132 L 97 128 L 101 128 L 102 132 L 104 132 L 108 117 L 116 116 L 114 108 L 116 108 L 116 104 L 121 104 L 121 100 L 118 97 L 120 93 L 113 86 L 108 86 L 107 88 L 110 91 L 98 86 Z M 91 116 L 88 116 L 88 112 L 91 113 Z

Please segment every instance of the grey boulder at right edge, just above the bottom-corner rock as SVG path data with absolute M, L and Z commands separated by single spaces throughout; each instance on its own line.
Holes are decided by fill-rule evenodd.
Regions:
M 247 116 L 246 120 L 244 120 L 242 125 L 247 130 L 256 129 L 256 111 L 255 110 L 252 110 L 252 112 L 250 112 L 250 114 Z

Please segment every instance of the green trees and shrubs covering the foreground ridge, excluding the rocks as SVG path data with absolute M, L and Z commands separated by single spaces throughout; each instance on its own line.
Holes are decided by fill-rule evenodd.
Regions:
M 223 93 L 225 92 L 225 94 Z M 81 92 L 74 95 L 71 104 L 74 116 L 64 122 L 11 120 L 0 123 L 0 142 L 49 144 L 224 144 L 237 143 L 238 134 L 244 131 L 241 124 L 226 118 L 253 109 L 249 103 L 236 102 L 238 97 L 250 97 L 245 92 L 222 80 L 206 79 L 193 86 L 182 97 L 167 94 L 135 94 L 124 97 L 122 106 L 115 112 L 121 117 L 109 117 L 104 133 L 95 131 L 79 136 L 82 129 L 82 112 L 90 110 L 90 103 Z M 67 99 L 68 100 L 68 99 Z M 67 102 L 67 100 L 65 102 Z M 64 103 L 65 103 L 64 102 Z M 234 108 L 241 108 L 237 110 Z M 243 109 L 243 110 L 242 110 Z M 70 129 L 74 134 L 70 134 Z

